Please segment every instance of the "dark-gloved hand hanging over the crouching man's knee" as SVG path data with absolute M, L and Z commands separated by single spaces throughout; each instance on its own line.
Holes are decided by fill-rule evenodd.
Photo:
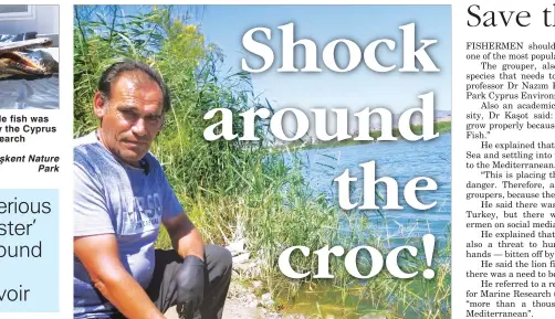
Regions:
M 205 296 L 205 262 L 195 255 L 185 257 L 176 275 L 177 309 L 180 318 L 192 318 Z M 184 317 L 185 316 L 185 317 Z

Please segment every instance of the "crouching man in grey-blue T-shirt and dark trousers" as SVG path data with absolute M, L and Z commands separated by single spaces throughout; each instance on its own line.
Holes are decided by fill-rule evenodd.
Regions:
M 221 318 L 231 254 L 205 245 L 149 148 L 170 108 L 157 72 L 109 66 L 94 95 L 100 127 L 74 148 L 74 317 Z M 174 249 L 155 249 L 160 225 Z

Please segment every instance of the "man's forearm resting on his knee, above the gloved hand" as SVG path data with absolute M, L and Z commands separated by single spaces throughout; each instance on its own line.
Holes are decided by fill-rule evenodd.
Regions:
M 188 255 L 193 255 L 205 260 L 202 236 L 185 213 L 171 220 L 164 221 L 164 225 L 171 238 L 171 245 L 179 256 L 185 258 Z

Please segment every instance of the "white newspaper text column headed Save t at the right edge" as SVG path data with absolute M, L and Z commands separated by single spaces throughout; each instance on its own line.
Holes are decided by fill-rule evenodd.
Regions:
M 468 2 L 458 11 L 453 130 L 464 131 L 464 147 L 453 148 L 453 168 L 464 177 L 453 187 L 453 315 L 552 318 L 555 8 Z

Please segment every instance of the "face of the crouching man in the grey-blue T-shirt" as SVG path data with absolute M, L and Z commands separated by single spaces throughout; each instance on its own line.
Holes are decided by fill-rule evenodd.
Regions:
M 124 72 L 113 83 L 107 103 L 94 97 L 103 145 L 124 162 L 138 166 L 164 121 L 164 96 L 158 84 L 142 72 Z

